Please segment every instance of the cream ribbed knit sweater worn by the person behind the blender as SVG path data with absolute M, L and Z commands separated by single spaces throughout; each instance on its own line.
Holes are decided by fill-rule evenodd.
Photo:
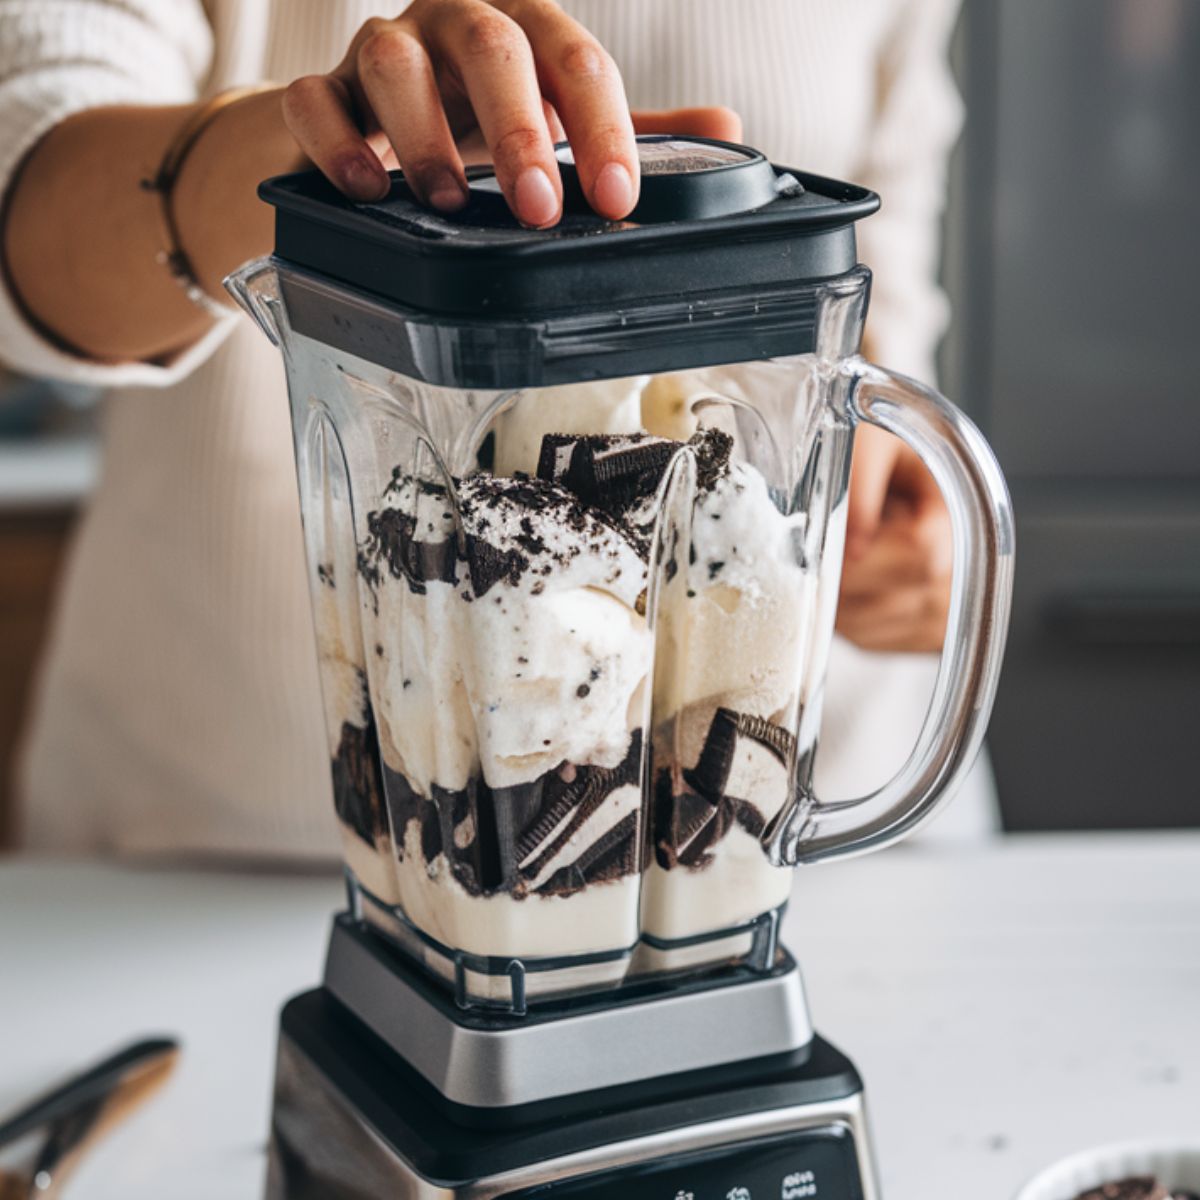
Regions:
M 632 103 L 725 103 L 776 161 L 866 184 L 870 337 L 932 378 L 958 0 L 566 0 Z M 0 187 L 71 113 L 324 71 L 372 0 L 0 0 Z M 20 790 L 25 840 L 122 852 L 336 853 L 281 365 L 230 317 L 166 365 L 47 344 L 0 288 L 0 358 L 109 388 L 104 469 L 64 580 Z M 839 648 L 826 794 L 907 750 L 932 665 Z

